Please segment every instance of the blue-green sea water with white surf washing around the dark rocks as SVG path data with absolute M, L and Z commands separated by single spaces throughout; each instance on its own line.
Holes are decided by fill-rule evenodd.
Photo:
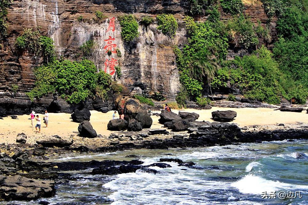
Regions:
M 91 175 L 91 169 L 67 172 L 75 177 L 56 185 L 52 198 L 0 204 L 308 204 L 308 141 L 273 141 L 240 145 L 168 150 L 129 150 L 74 154 L 61 161 L 132 160 L 143 165 L 160 158 L 193 161 L 193 168 L 151 167 L 157 174 L 136 171 L 119 175 Z

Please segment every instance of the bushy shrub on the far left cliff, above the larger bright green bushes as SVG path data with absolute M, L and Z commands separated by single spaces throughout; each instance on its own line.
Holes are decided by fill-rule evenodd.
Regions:
M 30 54 L 42 55 L 44 62 L 48 63 L 55 55 L 53 43 L 50 37 L 41 36 L 39 31 L 24 29 L 23 34 L 17 37 L 15 46 L 21 50 L 28 50 Z

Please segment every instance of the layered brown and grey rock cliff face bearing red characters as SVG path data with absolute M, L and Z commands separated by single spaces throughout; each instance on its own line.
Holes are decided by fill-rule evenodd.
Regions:
M 263 24 L 266 23 L 267 17 L 261 5 L 245 7 L 245 12 L 252 17 L 253 22 L 259 19 Z M 107 18 L 101 21 L 92 20 L 96 10 L 102 11 Z M 13 113 L 16 109 L 27 112 L 34 106 L 44 109 L 57 100 L 57 97 L 51 95 L 33 103 L 25 95 L 25 92 L 34 87 L 33 69 L 41 63 L 39 57 L 21 53 L 14 46 L 16 38 L 25 28 L 40 30 L 42 35 L 51 37 L 55 41 L 57 56 L 71 60 L 80 59 L 80 45 L 87 40 L 94 40 L 97 46 L 89 59 L 94 61 L 97 70 L 105 70 L 107 64 L 107 73 L 112 73 L 109 65 L 115 63 L 122 70 L 122 77 L 116 80 L 127 86 L 132 93 L 151 96 L 159 91 L 167 99 L 174 99 L 180 82 L 172 46 L 182 47 L 187 43 L 183 25 L 187 12 L 188 1 L 184 0 L 15 0 L 9 8 L 8 37 L 0 48 L 0 104 Z M 155 17 L 162 13 L 171 13 L 177 18 L 179 29 L 174 39 L 157 30 L 156 24 L 148 27 L 140 24 L 140 35 L 133 43 L 127 44 L 121 38 L 117 16 L 134 14 L 141 20 L 145 16 Z M 221 8 L 220 13 L 221 19 L 229 18 Z M 79 22 L 77 18 L 81 15 L 87 20 Z M 113 17 L 114 31 L 110 28 Z M 201 21 L 205 18 L 196 17 Z M 275 26 L 274 19 L 271 24 L 274 40 Z M 116 46 L 111 47 L 111 50 L 120 49 L 122 57 L 118 57 L 116 53 L 107 55 L 105 46 L 110 44 Z M 246 53 L 247 50 L 230 48 L 228 58 Z M 18 85 L 16 93 L 12 92 L 12 85 Z M 72 107 L 68 104 L 66 106 Z

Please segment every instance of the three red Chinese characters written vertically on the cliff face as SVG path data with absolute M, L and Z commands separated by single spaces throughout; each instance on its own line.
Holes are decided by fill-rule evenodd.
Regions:
M 111 30 L 112 32 L 115 31 L 115 18 L 111 18 L 109 19 L 109 27 L 106 31 L 106 33 Z M 106 41 L 106 45 L 104 47 L 104 49 L 106 49 L 106 53 L 108 53 L 108 51 L 110 50 L 111 53 L 116 53 L 116 44 L 114 43 L 115 38 L 108 36 L 108 39 L 104 39 L 104 41 Z M 107 70 L 109 70 L 109 74 L 113 75 L 115 74 L 115 66 L 118 64 L 116 62 L 117 60 L 112 58 L 111 59 L 107 59 L 106 58 L 106 62 L 105 62 L 105 73 L 107 73 Z

